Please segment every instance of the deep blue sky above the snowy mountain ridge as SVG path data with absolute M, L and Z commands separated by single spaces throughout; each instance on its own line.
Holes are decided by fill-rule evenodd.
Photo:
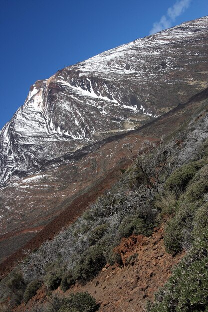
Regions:
M 0 129 L 34 81 L 147 36 L 154 23 L 205 15 L 208 0 L 0 0 Z

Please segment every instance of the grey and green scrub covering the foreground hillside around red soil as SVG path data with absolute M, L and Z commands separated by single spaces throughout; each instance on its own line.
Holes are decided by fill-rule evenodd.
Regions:
M 150 236 L 163 222 L 166 250 L 177 254 L 186 249 L 188 253 L 147 311 L 208 311 L 208 297 L 202 298 L 208 293 L 207 127 L 204 117 L 195 128 L 191 124 L 187 132 L 168 142 L 157 146 L 145 142 L 133 165 L 109 192 L 52 241 L 27 252 L 23 263 L 1 281 L 1 300 L 10 296 L 11 307 L 27 302 L 41 285 L 48 294 L 58 287 L 65 292 L 75 282 L 95 277 L 106 263 L 123 265 L 113 250 L 121 239 L 132 234 Z M 127 259 L 126 265 L 133 261 L 134 257 Z M 86 293 L 52 302 L 51 312 L 98 308 Z

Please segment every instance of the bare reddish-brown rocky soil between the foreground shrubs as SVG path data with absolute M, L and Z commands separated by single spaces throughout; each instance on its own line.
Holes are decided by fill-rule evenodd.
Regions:
M 172 268 L 182 259 L 184 252 L 176 257 L 165 251 L 163 229 L 155 228 L 151 237 L 132 235 L 123 238 L 115 253 L 122 257 L 123 266 L 107 264 L 102 272 L 86 285 L 76 284 L 71 292 L 88 292 L 100 304 L 99 312 L 142 312 L 147 300 L 163 286 Z M 60 289 L 55 291 L 63 294 Z M 31 309 L 36 303 L 46 303 L 46 291 L 41 288 L 26 305 L 15 312 Z

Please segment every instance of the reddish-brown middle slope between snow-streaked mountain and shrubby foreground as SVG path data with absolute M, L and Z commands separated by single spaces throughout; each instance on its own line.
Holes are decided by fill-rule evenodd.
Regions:
M 21 257 L 22 249 L 36 248 L 44 240 L 51 239 L 85 210 L 96 196 L 119 180 L 120 169 L 131 163 L 130 158 L 138 153 L 144 140 L 155 142 L 164 134 L 170 136 L 207 107 L 208 89 L 141 129 L 91 146 L 89 154 L 77 159 L 65 156 L 66 159 L 61 160 L 56 169 L 52 163 L 51 168 L 41 175 L 33 175 L 1 188 L 1 200 L 10 207 L 4 210 L 1 218 L 5 233 L 0 241 L 2 258 L 22 246 L 25 240 L 28 241 L 1 265 L 1 270 Z M 38 230 L 41 231 L 37 233 Z

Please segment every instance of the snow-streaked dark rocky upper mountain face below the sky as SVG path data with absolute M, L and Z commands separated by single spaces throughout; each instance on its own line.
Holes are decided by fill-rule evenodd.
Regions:
M 31 86 L 0 132 L 0 183 L 126 132 L 207 87 L 208 17 L 137 39 Z

